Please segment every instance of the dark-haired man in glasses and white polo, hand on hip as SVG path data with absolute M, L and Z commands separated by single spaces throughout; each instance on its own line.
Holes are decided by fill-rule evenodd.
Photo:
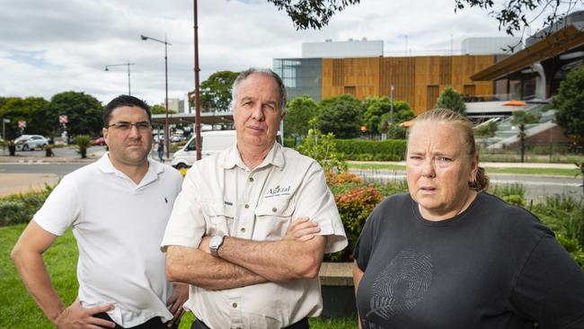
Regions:
M 50 193 L 14 245 L 14 265 L 58 328 L 176 325 L 188 289 L 165 280 L 159 245 L 181 174 L 147 157 L 152 129 L 145 102 L 115 98 L 105 108 L 103 127 L 110 151 L 67 174 Z M 51 286 L 42 253 L 68 227 L 79 248 L 79 291 L 66 307 Z

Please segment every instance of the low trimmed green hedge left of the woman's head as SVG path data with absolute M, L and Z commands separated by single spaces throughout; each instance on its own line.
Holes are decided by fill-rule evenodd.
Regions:
M 348 160 L 402 161 L 405 159 L 405 140 L 335 139 L 337 151 Z

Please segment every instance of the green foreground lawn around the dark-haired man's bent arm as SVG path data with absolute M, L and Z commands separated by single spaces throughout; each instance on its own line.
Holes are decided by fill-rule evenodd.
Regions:
M 10 252 L 24 227 L 23 224 L 0 227 L 0 328 L 54 328 L 24 288 L 10 260 Z M 44 255 L 53 286 L 67 305 L 77 296 L 77 254 L 75 238 L 68 230 Z M 189 329 L 193 319 L 192 313 L 185 315 L 180 328 Z M 310 326 L 314 329 L 349 329 L 357 327 L 357 320 L 314 318 L 310 319 Z

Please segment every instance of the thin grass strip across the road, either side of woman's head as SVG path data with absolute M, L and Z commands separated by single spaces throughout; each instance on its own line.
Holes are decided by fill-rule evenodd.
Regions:
M 400 164 L 355 164 L 350 163 L 349 169 L 361 170 L 395 170 L 405 171 L 405 165 Z M 530 175 L 545 175 L 545 176 L 567 176 L 575 177 L 580 170 L 574 166 L 574 169 L 563 168 L 485 168 L 487 173 L 509 173 L 509 174 L 530 174 Z

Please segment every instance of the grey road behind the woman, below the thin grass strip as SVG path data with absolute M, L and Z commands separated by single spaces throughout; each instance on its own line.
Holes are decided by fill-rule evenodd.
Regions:
M 351 170 L 359 176 L 375 181 L 387 182 L 391 180 L 404 180 L 405 172 L 394 171 L 371 171 L 371 170 Z M 570 194 L 581 195 L 582 179 L 579 177 L 549 177 L 523 174 L 491 174 L 489 175 L 491 183 L 520 183 L 526 188 L 527 200 L 538 200 L 545 194 L 561 194 L 567 192 Z

